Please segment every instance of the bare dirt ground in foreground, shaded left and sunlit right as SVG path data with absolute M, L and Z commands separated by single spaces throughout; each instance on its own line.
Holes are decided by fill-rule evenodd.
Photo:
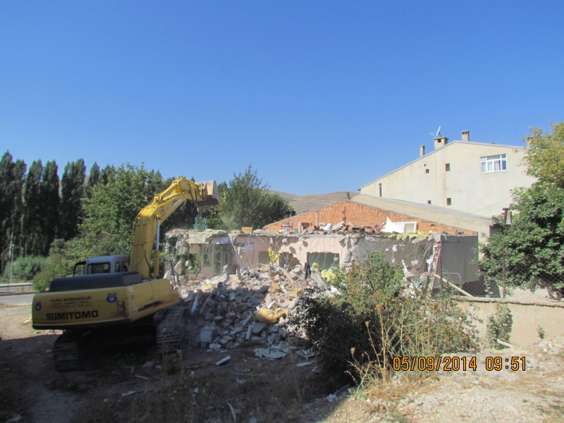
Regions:
M 99 351 L 87 371 L 59 374 L 58 333 L 34 331 L 29 317 L 29 305 L 0 307 L 0 422 L 564 422 L 562 348 L 484 351 L 476 372 L 431 374 L 400 400 L 351 389 L 329 402 L 315 360 L 257 358 L 252 343 L 226 353 L 187 345 L 153 367 L 143 365 L 154 346 Z M 525 356 L 526 371 L 488 372 L 488 355 Z

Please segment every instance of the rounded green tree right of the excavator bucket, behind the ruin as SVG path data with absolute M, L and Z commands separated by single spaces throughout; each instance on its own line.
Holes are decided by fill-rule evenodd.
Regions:
M 249 165 L 244 173 L 233 173 L 233 179 L 221 197 L 221 216 L 229 228 L 242 226 L 262 228 L 283 218 L 292 210 L 290 204 L 278 194 L 269 192 L 257 171 Z

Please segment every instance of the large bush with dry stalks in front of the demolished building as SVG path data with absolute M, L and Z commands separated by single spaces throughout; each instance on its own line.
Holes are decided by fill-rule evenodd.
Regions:
M 471 316 L 445 290 L 431 298 L 407 287 L 403 268 L 373 252 L 366 262 L 335 269 L 341 295 L 309 297 L 293 324 L 305 331 L 332 383 L 346 383 L 363 364 L 387 372 L 396 356 L 436 356 L 477 347 Z M 356 369 L 356 370 L 355 370 Z

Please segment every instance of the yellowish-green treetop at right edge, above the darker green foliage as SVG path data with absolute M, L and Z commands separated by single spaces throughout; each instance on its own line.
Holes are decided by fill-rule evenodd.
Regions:
M 564 188 L 564 122 L 551 123 L 552 133 L 531 128 L 523 137 L 527 143 L 525 166 L 527 175 Z

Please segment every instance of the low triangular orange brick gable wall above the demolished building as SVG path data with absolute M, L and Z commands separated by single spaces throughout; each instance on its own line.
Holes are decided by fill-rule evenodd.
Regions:
M 478 234 L 474 231 L 465 231 L 453 226 L 441 225 L 424 219 L 407 216 L 406 214 L 397 214 L 388 212 L 387 210 L 376 209 L 376 207 L 363 206 L 362 204 L 350 202 L 348 200 L 331 204 L 331 206 L 324 207 L 323 209 L 317 210 L 317 212 L 307 212 L 299 214 L 298 216 L 290 217 L 289 219 L 271 223 L 270 225 L 265 226 L 264 229 L 270 231 L 280 231 L 282 229 L 282 224 L 287 221 L 294 222 L 294 229 L 298 228 L 298 222 L 306 223 L 309 226 L 322 226 L 326 223 L 333 223 L 334 225 L 341 221 L 344 221 L 345 223 L 353 223 L 354 225 L 374 226 L 376 224 L 382 225 L 383 223 L 386 223 L 386 218 L 388 217 L 393 222 L 417 221 L 417 229 L 422 232 L 433 231 L 434 233 L 455 233 L 459 231 L 465 235 Z

